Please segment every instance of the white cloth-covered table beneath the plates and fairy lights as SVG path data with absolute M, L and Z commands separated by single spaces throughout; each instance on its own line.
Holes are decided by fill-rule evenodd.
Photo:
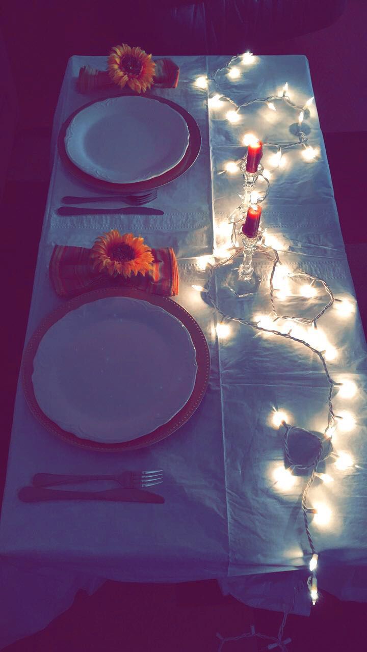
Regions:
M 336 411 L 352 413 L 355 427 L 351 432 L 337 430 L 333 445 L 336 451 L 347 451 L 354 464 L 345 470 L 333 458 L 325 460 L 323 471 L 333 481 L 315 479 L 309 499 L 312 503 L 317 495 L 330 507 L 331 518 L 325 526 L 311 522 L 310 527 L 319 552 L 319 590 L 342 600 L 367 600 L 367 349 L 317 97 L 303 127 L 317 156 L 305 160 L 302 147 L 290 147 L 279 168 L 270 162 L 276 153 L 271 143 L 296 140 L 298 114 L 291 105 L 274 100 L 273 110 L 264 101 L 253 102 L 232 121 L 227 116 L 229 100 L 210 101 L 218 92 L 218 80 L 223 97 L 236 104 L 278 95 L 279 89 L 281 97 L 287 83 L 291 100 L 303 106 L 313 96 L 308 61 L 303 55 L 254 56 L 234 78 L 225 72 L 215 75 L 226 70 L 227 57 L 170 58 L 180 68 L 178 86 L 153 87 L 150 93 L 172 100 L 193 116 L 201 147 L 191 168 L 161 186 L 149 203 L 163 211 L 159 216 L 138 215 L 137 208 L 133 215 L 93 215 L 92 203 L 89 215 L 58 214 L 64 196 L 101 194 L 65 165 L 57 145 L 61 127 L 78 108 L 119 91 L 94 89 L 83 95 L 77 87 L 80 68 L 104 70 L 106 57 L 69 59 L 54 117 L 52 172 L 25 346 L 40 321 L 65 302 L 50 283 L 54 246 L 91 247 L 106 231 L 131 232 L 149 246 L 172 247 L 176 254 L 180 289 L 173 299 L 193 316 L 206 338 L 208 387 L 195 413 L 169 437 L 138 450 L 99 452 L 72 446 L 48 432 L 29 410 L 18 382 L 0 520 L 1 648 L 46 627 L 71 607 L 79 589 L 91 595 L 106 580 L 179 583 L 215 578 L 225 595 L 254 608 L 310 614 L 310 548 L 301 509 L 306 480 L 296 477 L 288 490 L 274 480 L 274 469 L 283 464 L 283 441 L 271 419 L 274 410 L 283 410 L 290 423 L 323 432 L 328 386 L 322 365 L 296 342 L 238 321 L 228 321 L 221 333 L 215 306 L 197 289 L 206 286 L 207 261 L 225 258 L 223 249 L 229 246 L 229 216 L 238 207 L 243 179 L 241 173 L 228 171 L 227 164 L 244 156 L 246 132 L 270 143 L 264 144 L 262 160 L 271 179 L 261 224 L 276 243 L 281 262 L 292 271 L 324 279 L 334 297 L 351 306 L 348 314 L 331 306 L 319 326 L 337 352 L 330 361 L 332 377 L 340 382 L 347 378 L 357 387 L 352 398 L 338 392 L 334 398 Z M 342 149 L 341 140 L 341 156 Z M 351 198 L 351 228 L 358 229 L 359 210 Z M 255 314 L 271 314 L 272 308 L 272 261 L 261 254 L 255 254 L 254 261 L 259 289 L 232 306 L 249 321 Z M 215 280 L 218 293 L 219 282 Z M 302 297 L 302 310 L 312 314 L 314 301 Z M 106 475 L 125 469 L 163 469 L 157 492 L 165 503 L 24 503 L 18 497 L 35 473 Z

